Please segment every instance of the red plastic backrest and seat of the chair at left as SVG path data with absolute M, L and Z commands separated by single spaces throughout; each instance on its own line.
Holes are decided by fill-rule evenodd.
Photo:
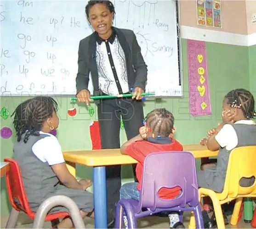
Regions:
M 6 228 L 15 228 L 19 212 L 23 211 L 29 218 L 34 219 L 35 213 L 31 211 L 26 192 L 24 190 L 23 180 L 20 172 L 20 167 L 17 161 L 11 158 L 5 158 L 4 162 L 9 162 L 10 170 L 6 174 L 6 186 L 9 200 L 12 205 L 11 213 L 6 224 Z M 14 200 L 17 199 L 20 204 Z M 51 221 L 52 226 L 59 223 L 59 218 L 69 216 L 66 212 L 48 214 L 45 221 Z

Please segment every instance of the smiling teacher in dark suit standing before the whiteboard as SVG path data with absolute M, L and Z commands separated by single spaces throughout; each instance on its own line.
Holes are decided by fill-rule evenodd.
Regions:
M 142 93 L 147 82 L 147 65 L 133 31 L 113 27 L 114 5 L 108 0 L 90 0 L 85 7 L 87 20 L 95 30 L 82 39 L 78 51 L 77 99 L 90 104 L 91 75 L 94 95 L 131 93 L 132 98 L 97 100 L 102 149 L 120 148 L 120 118 L 127 139 L 139 134 L 144 114 Z M 108 228 L 114 228 L 115 204 L 119 200 L 121 166 L 107 166 Z M 135 166 L 133 165 L 135 174 Z M 135 176 L 136 177 L 136 176 Z

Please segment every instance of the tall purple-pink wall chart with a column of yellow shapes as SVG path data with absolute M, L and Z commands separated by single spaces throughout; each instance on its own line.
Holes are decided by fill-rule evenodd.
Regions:
M 205 41 L 188 40 L 189 110 L 193 116 L 211 114 Z

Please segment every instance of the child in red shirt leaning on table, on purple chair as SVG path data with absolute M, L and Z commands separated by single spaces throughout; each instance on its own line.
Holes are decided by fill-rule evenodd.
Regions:
M 150 153 L 183 151 L 180 142 L 172 139 L 175 131 L 174 116 L 170 111 L 161 108 L 147 114 L 144 125 L 139 129 L 139 135 L 125 142 L 121 147 L 121 153 L 127 154 L 138 161 L 136 176 L 137 189 L 141 189 L 144 160 Z M 170 162 L 171 166 L 171 162 Z M 166 174 L 166 179 L 170 175 Z M 181 192 L 180 187 L 161 188 L 158 196 L 162 199 L 173 199 Z

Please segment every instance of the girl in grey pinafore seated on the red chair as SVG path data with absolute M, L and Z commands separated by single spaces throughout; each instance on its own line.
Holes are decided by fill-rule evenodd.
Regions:
M 68 196 L 80 208 L 82 217 L 93 217 L 93 197 L 88 191 L 90 180 L 76 180 L 65 164 L 57 138 L 50 134 L 57 129 L 57 102 L 51 97 L 38 96 L 19 104 L 14 113 L 17 142 L 14 159 L 18 162 L 28 203 L 33 212 L 51 196 Z M 65 207 L 54 207 L 51 213 L 67 212 Z M 72 228 L 65 218 L 53 228 Z

